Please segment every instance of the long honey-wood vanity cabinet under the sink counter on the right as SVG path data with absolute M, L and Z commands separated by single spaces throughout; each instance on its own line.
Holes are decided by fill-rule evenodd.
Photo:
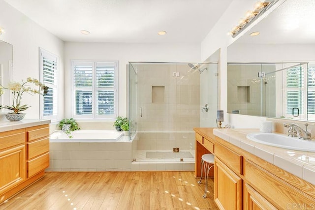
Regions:
M 209 138 L 206 129 L 194 129 L 203 141 Z M 219 209 L 315 208 L 315 185 L 219 137 L 211 139 L 215 148 L 214 199 Z

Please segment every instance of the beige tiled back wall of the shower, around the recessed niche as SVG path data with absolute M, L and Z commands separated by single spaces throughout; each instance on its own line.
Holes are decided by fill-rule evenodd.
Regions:
M 192 131 L 199 125 L 200 74 L 189 69 L 187 64 L 137 66 L 138 131 Z M 164 87 L 161 103 L 153 102 L 156 86 Z

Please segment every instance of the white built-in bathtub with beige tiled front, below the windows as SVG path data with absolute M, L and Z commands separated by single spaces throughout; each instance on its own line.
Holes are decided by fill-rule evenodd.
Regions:
M 130 171 L 132 142 L 116 130 L 53 131 L 46 171 Z

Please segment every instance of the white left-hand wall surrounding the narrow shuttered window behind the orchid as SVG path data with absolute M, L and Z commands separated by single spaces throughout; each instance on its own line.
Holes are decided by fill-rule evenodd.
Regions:
M 39 78 L 39 47 L 59 56 L 59 103 L 63 104 L 63 41 L 3 0 L 0 0 L 0 27 L 6 31 L 0 39 L 13 45 L 13 79 L 16 82 L 27 77 Z M 39 97 L 23 94 L 23 103 L 31 106 L 25 111 L 25 119 L 39 119 Z M 59 115 L 63 116 L 62 108 Z

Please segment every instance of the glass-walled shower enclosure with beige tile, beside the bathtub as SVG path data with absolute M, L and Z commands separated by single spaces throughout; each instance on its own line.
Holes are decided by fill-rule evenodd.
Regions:
M 216 126 L 217 76 L 214 62 L 129 62 L 133 163 L 187 163 L 185 170 L 194 169 L 193 127 Z M 201 122 L 207 118 L 208 124 Z

